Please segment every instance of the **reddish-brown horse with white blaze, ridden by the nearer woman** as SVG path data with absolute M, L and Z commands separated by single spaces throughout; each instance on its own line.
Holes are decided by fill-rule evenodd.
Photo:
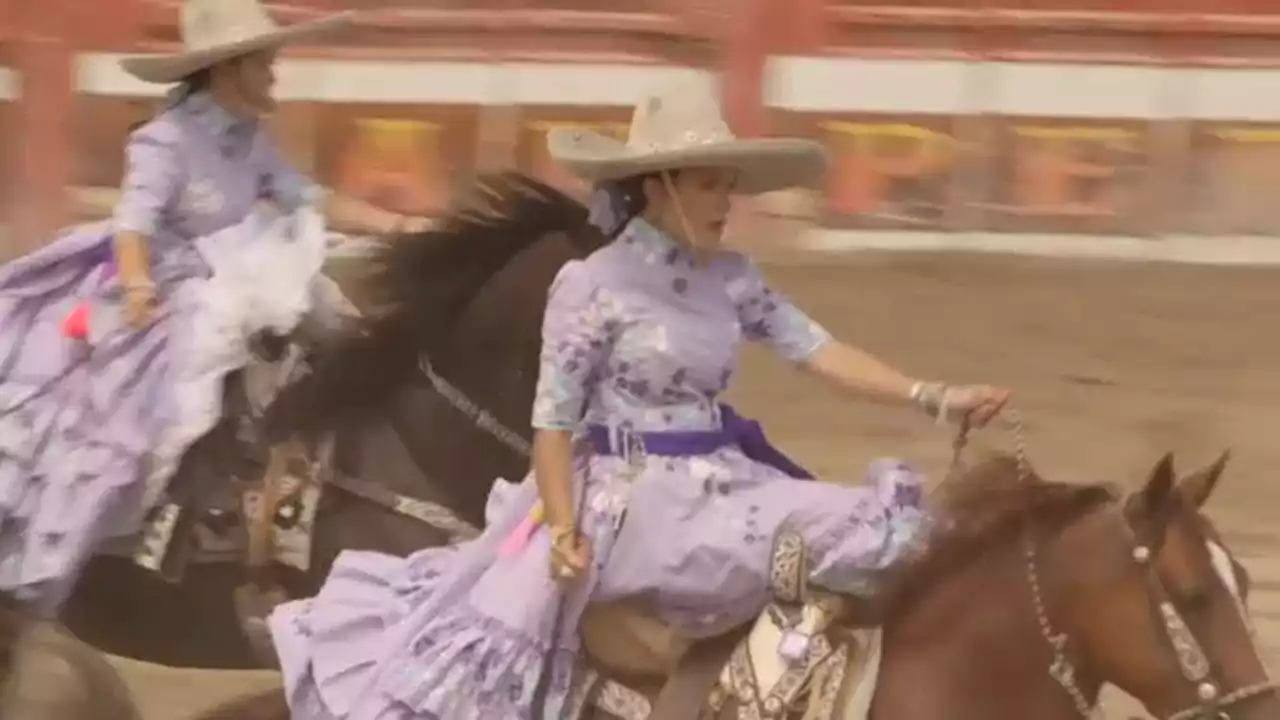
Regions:
M 595 687 L 585 715 L 1068 720 L 1091 717 L 1110 683 L 1165 720 L 1277 717 L 1249 629 L 1248 574 L 1201 511 L 1224 466 L 1175 480 L 1165 457 L 1123 496 L 1043 480 L 1011 457 L 979 464 L 938 498 L 929 550 L 883 578 L 883 629 L 870 642 L 865 598 L 805 588 L 804 548 L 783 537 L 774 603 L 745 638 L 705 643 L 724 653 L 690 651 L 696 660 L 657 705 L 602 684 L 599 666 L 582 673 Z M 819 618 L 820 642 L 788 665 L 760 641 L 797 607 L 823 610 L 796 615 Z M 872 644 L 882 650 L 868 664 L 859 650 Z M 690 692 L 668 702 L 681 683 Z M 283 693 L 238 698 L 201 720 L 246 717 L 287 720 Z

